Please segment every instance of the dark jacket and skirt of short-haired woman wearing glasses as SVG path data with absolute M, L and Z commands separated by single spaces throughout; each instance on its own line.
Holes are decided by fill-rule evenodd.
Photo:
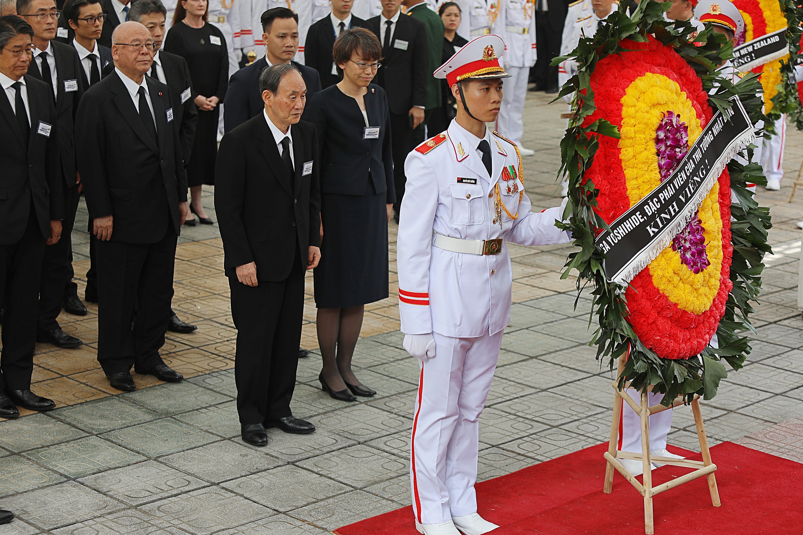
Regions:
M 385 205 L 396 201 L 390 112 L 381 87 L 370 84 L 364 99 L 369 127 L 379 128 L 375 138 L 357 100 L 336 85 L 313 95 L 305 110 L 304 120 L 315 124 L 320 147 L 324 240 L 314 273 L 318 308 L 388 297 Z

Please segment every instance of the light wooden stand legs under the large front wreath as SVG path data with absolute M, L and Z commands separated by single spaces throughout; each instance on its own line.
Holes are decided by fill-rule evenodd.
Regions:
M 619 368 L 617 377 L 622 375 L 625 369 L 625 358 L 619 359 Z M 695 395 L 694 401 L 691 402 L 691 411 L 695 415 L 695 426 L 697 428 L 697 438 L 700 443 L 700 452 L 703 454 L 703 461 L 687 460 L 687 459 L 674 459 L 671 457 L 658 457 L 650 456 L 650 415 L 656 412 L 666 411 L 667 408 L 678 407 L 683 404 L 683 399 L 676 399 L 671 407 L 664 407 L 663 405 L 654 405 L 650 407 L 647 405 L 647 391 L 642 391 L 641 406 L 630 398 L 630 395 L 624 391 L 620 391 L 617 382 L 612 383 L 613 391 L 613 419 L 610 424 L 610 442 L 608 451 L 605 452 L 605 488 L 603 492 L 609 493 L 613 490 L 613 469 L 616 468 L 626 480 L 630 481 L 638 492 L 644 496 L 644 533 L 652 535 L 654 533 L 652 501 L 653 496 L 660 494 L 670 488 L 675 488 L 680 484 L 687 483 L 695 480 L 698 477 L 707 476 L 708 490 L 711 492 L 711 503 L 714 507 L 719 507 L 719 491 L 716 488 L 716 479 L 714 472 L 716 471 L 716 464 L 711 463 L 711 453 L 708 451 L 708 440 L 705 435 L 705 428 L 703 427 L 703 415 L 700 412 L 699 395 Z M 620 452 L 617 449 L 618 436 L 619 436 L 619 421 L 622 419 L 622 401 L 626 402 L 633 408 L 635 413 L 642 419 L 642 452 Z M 644 467 L 644 484 L 636 480 L 634 476 L 627 472 L 627 469 L 618 461 L 618 459 L 632 459 L 642 461 Z M 650 473 L 650 462 L 656 461 L 662 464 L 671 464 L 673 466 L 682 466 L 683 468 L 695 468 L 694 472 L 689 472 L 685 476 L 676 477 L 674 480 L 667 481 L 664 484 L 659 484 L 657 487 L 652 486 L 652 474 Z

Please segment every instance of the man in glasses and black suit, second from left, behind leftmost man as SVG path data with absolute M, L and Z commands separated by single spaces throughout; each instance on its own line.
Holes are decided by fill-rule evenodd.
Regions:
M 57 43 L 55 22 L 59 15 L 54 0 L 17 0 L 17 11 L 34 29 L 34 44 L 39 49 L 31 61 L 28 74 L 51 87 L 55 98 L 59 156 L 63 173 L 64 221 L 63 237 L 55 245 L 45 248 L 42 264 L 42 283 L 39 286 L 39 328 L 37 342 L 51 343 L 56 347 L 79 347 L 81 341 L 65 333 L 56 318 L 62 306 L 69 314 L 84 316 L 87 309 L 74 293 L 65 294 L 67 277 L 71 272 L 72 226 L 78 209 L 79 176 L 75 168 L 75 111 L 84 86 L 80 82 L 84 69 L 75 48 Z

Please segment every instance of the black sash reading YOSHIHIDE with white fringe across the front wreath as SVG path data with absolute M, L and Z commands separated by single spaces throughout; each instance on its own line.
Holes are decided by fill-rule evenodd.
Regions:
M 738 99 L 724 116 L 717 111 L 683 160 L 661 185 L 616 218 L 594 241 L 605 253 L 605 277 L 626 286 L 658 257 L 691 220 L 725 165 L 756 140 Z

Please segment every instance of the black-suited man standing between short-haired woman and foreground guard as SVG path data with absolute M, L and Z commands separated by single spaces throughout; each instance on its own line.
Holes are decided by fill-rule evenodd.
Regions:
M 426 26 L 418 18 L 402 16 L 401 5 L 402 0 L 382 0 L 382 14 L 367 23 L 379 38 L 384 56 L 374 81 L 388 95 L 397 222 L 407 181 L 404 160 L 412 149 L 413 130 L 424 120 L 426 83 L 432 76 L 426 71 Z

